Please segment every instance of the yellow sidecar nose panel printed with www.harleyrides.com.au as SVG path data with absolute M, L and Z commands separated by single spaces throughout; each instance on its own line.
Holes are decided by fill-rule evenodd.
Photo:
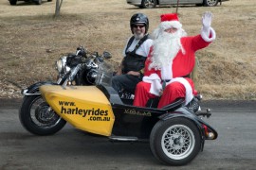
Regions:
M 110 136 L 115 116 L 106 96 L 95 86 L 44 85 L 42 96 L 50 107 L 79 129 Z

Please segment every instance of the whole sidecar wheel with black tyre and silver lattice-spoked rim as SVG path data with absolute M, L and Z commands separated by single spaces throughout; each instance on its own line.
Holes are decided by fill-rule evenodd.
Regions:
M 184 165 L 200 151 L 200 132 L 192 121 L 184 117 L 160 120 L 151 132 L 150 147 L 157 160 Z

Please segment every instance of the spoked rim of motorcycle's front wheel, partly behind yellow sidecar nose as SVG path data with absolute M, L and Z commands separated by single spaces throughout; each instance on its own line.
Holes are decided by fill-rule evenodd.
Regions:
M 37 127 L 50 128 L 56 126 L 61 117 L 52 110 L 46 101 L 41 97 L 36 97 L 30 105 L 30 118 Z

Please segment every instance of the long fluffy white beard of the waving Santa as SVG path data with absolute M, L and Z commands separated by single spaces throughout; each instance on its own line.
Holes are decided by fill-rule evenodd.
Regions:
M 165 31 L 158 34 L 153 44 L 152 63 L 149 69 L 155 68 L 156 70 L 161 70 L 161 68 L 173 64 L 173 60 L 179 50 L 182 50 L 184 54 L 185 51 L 180 42 L 181 37 L 182 30 L 177 30 L 173 34 Z

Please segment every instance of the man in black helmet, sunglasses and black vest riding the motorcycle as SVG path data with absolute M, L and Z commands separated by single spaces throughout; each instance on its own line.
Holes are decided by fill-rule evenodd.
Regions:
M 123 90 L 135 93 L 136 85 L 142 80 L 144 62 L 153 41 L 149 38 L 149 19 L 143 13 L 136 13 L 131 17 L 130 37 L 123 49 L 123 59 L 116 76 L 112 78 L 112 87 L 120 94 Z

